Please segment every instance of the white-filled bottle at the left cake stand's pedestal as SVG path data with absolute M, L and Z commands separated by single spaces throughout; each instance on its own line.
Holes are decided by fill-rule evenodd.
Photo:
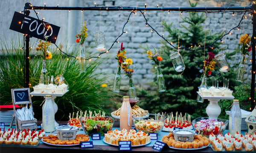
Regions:
M 55 128 L 55 111 L 54 107 L 52 105 L 52 95 L 46 95 L 45 96 L 45 102 L 43 105 L 43 129 L 45 132 L 52 132 Z

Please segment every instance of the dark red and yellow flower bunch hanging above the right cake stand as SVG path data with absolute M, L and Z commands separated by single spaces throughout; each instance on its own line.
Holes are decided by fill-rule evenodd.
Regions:
M 215 68 L 216 62 L 213 61 L 215 54 L 213 54 L 212 52 L 209 52 L 208 55 L 209 55 L 208 59 L 204 59 L 204 68 L 203 68 L 204 74 L 203 75 L 211 75 L 212 71 Z

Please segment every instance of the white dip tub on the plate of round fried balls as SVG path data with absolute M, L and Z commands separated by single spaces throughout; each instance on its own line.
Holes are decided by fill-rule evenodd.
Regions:
M 195 136 L 194 130 L 187 130 L 187 129 L 174 130 L 172 133 L 175 141 L 180 141 L 180 142 L 187 142 L 187 141 L 192 142 Z

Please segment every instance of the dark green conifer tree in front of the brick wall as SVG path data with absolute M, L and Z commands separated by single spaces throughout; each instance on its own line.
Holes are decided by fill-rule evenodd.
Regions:
M 196 4 L 192 4 L 195 7 Z M 215 40 L 223 36 L 223 34 L 211 34 L 209 30 L 205 31 L 205 13 L 198 14 L 197 12 L 189 12 L 188 15 L 182 18 L 183 22 L 186 24 L 180 26 L 180 31 L 173 27 L 174 23 L 166 23 L 163 21 L 163 27 L 165 31 L 168 31 L 168 36 L 166 37 L 169 42 L 172 42 L 174 46 L 186 47 L 192 49 L 200 48 L 200 46 L 211 45 Z M 180 32 L 180 34 L 179 34 Z M 198 91 L 198 86 L 201 84 L 201 75 L 203 74 L 203 61 L 204 58 L 208 58 L 208 52 L 211 51 L 214 54 L 223 51 L 221 48 L 221 42 L 216 42 L 211 47 L 190 51 L 190 50 L 180 50 L 180 54 L 183 57 L 186 69 L 182 73 L 177 73 L 172 65 L 169 58 L 169 54 L 172 51 L 177 51 L 172 48 L 165 41 L 162 46 L 161 56 L 162 61 L 162 71 L 165 78 L 166 91 L 163 93 L 141 91 L 141 95 L 145 95 L 145 100 L 140 102 L 140 106 L 148 109 L 151 113 L 158 112 L 182 112 L 191 114 L 192 118 L 198 116 L 207 116 L 206 107 L 208 105 L 207 100 L 204 103 L 196 102 L 196 97 Z M 145 51 L 148 48 L 144 48 Z M 235 52 L 228 52 L 226 56 L 231 58 Z M 235 77 L 236 72 L 233 68 L 227 73 L 220 73 L 218 71 L 218 66 L 215 65 L 215 71 L 212 72 L 211 77 L 214 76 L 222 83 L 222 78 L 225 77 L 230 79 L 230 86 L 236 85 Z M 208 77 L 207 84 L 211 85 Z M 232 82 L 232 83 L 231 83 Z M 233 83 L 234 82 L 234 83 Z M 221 83 L 219 84 L 221 86 Z M 231 87 L 232 88 L 232 87 Z M 232 88 L 233 89 L 233 88 Z

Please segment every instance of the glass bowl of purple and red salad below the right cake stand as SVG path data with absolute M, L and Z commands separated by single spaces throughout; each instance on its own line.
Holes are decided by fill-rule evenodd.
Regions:
M 217 136 L 227 127 L 227 119 L 209 119 L 208 117 L 198 117 L 192 121 L 195 132 L 208 137 L 211 133 Z

